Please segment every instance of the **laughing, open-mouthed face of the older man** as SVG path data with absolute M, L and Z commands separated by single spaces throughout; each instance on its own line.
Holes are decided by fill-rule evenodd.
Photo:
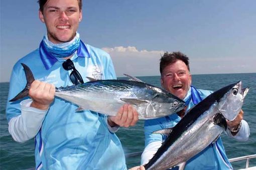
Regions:
M 161 76 L 161 85 L 167 91 L 184 99 L 191 85 L 191 74 L 182 60 L 167 65 Z

